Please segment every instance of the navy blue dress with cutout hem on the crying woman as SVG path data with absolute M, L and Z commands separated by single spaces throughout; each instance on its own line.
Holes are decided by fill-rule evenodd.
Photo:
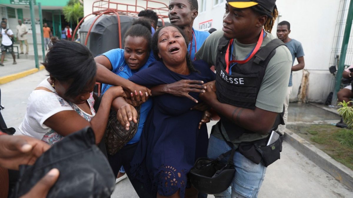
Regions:
M 152 87 L 179 80 L 215 80 L 215 74 L 204 61 L 194 61 L 199 70 L 190 75 L 172 72 L 160 61 L 151 64 L 129 80 Z M 198 93 L 189 93 L 199 102 Z M 164 94 L 153 98 L 152 109 L 146 119 L 141 139 L 131 161 L 132 177 L 143 182 L 153 196 L 170 196 L 180 190 L 185 196 L 186 174 L 198 157 L 207 156 L 207 126 L 198 129 L 203 112 L 190 110 L 195 102 L 186 98 Z

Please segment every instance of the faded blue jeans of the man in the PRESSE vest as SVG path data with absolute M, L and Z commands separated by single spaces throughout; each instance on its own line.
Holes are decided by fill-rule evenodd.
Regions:
M 222 153 L 231 150 L 228 144 L 213 135 L 208 143 L 207 156 L 216 159 Z M 222 160 L 226 163 L 228 157 Z M 235 174 L 228 190 L 215 194 L 217 198 L 256 198 L 265 177 L 266 167 L 262 163 L 256 164 L 239 151 L 234 153 Z

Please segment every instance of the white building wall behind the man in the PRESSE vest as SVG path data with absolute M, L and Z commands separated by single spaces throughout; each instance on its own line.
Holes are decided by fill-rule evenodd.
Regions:
M 206 2 L 206 11 L 200 12 L 200 5 Z M 212 27 L 222 28 L 222 18 L 225 13 L 226 0 L 220 5 L 215 1 L 198 0 L 199 15 L 194 21 L 194 28 L 199 29 L 203 21 L 212 20 Z M 331 51 L 335 38 L 335 26 L 339 12 L 340 1 L 330 0 L 296 0 L 276 1 L 280 13 L 274 26 L 276 34 L 278 21 L 287 20 L 291 23 L 290 38 L 300 41 L 303 45 L 305 56 L 305 69 L 309 71 L 309 87 L 306 99 L 308 101 L 322 102 L 326 100 L 333 89 L 332 75 L 329 73 Z M 314 8 L 314 9 L 313 9 Z M 297 64 L 295 61 L 294 64 Z M 297 93 L 303 72 L 293 72 L 293 92 L 291 101 L 297 100 Z

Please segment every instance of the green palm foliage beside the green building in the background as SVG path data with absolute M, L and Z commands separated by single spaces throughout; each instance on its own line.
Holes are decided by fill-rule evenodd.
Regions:
M 83 4 L 80 0 L 70 0 L 67 5 L 62 8 L 65 20 L 67 22 L 76 22 L 78 19 L 83 17 Z

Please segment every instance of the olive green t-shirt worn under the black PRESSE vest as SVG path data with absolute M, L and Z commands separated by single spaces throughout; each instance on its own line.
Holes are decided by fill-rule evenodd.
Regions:
M 275 39 L 273 35 L 266 32 L 267 35 L 263 39 L 261 47 L 264 47 L 271 40 Z M 223 37 L 223 31 L 217 30 L 213 32 L 203 43 L 202 47 L 196 52 L 195 57 L 198 60 L 203 60 L 209 65 L 216 66 L 217 47 L 219 40 Z M 234 39 L 233 56 L 236 60 L 244 60 L 246 56 L 255 47 L 254 44 L 241 44 Z M 276 48 L 275 55 L 269 61 L 265 70 L 265 75 L 257 95 L 255 106 L 272 112 L 280 113 L 283 111 L 283 104 L 287 94 L 289 76 L 292 68 L 292 55 L 285 45 Z M 221 126 L 224 131 L 223 126 Z M 218 123 L 213 127 L 213 135 L 223 140 L 220 131 L 218 130 Z M 227 134 L 223 132 L 226 139 L 229 140 Z M 268 135 L 247 134 L 244 133 L 233 142 L 237 148 L 240 142 L 251 142 L 260 140 Z

